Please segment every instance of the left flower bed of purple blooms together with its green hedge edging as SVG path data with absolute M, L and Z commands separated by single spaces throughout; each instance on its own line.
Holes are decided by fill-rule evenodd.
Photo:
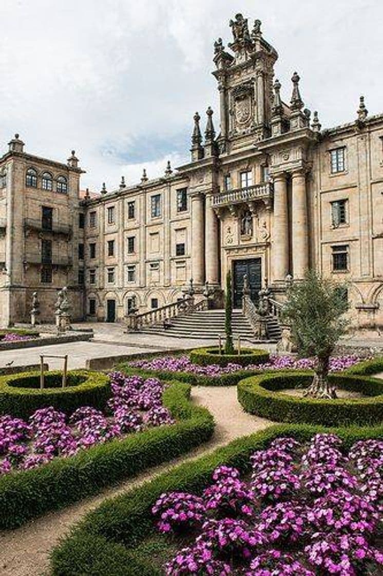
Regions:
M 205 408 L 191 406 L 190 386 L 172 382 L 162 394 L 162 385 L 153 379 L 125 380 L 113 374 L 112 380 L 113 417 L 85 407 L 69 420 L 46 409 L 28 423 L 1 419 L 3 454 L 21 471 L 0 478 L 0 528 L 15 528 L 85 498 L 177 457 L 212 435 L 213 418 Z M 161 426 L 173 419 L 172 426 Z

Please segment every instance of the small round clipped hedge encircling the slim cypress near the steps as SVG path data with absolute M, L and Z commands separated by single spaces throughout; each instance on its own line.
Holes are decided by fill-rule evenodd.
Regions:
M 227 366 L 228 364 L 239 364 L 240 366 L 249 366 L 251 364 L 262 364 L 268 362 L 270 354 L 267 350 L 257 348 L 241 348 L 240 354 L 220 354 L 219 348 L 196 348 L 189 354 L 190 361 L 199 366 L 209 366 L 217 364 Z

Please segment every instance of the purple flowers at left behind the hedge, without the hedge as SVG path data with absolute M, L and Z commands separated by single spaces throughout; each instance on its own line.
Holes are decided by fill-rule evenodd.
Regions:
M 28 422 L 0 416 L 0 475 L 46 464 L 56 456 L 79 450 L 148 427 L 173 424 L 162 404 L 163 384 L 155 378 L 111 375 L 112 396 L 104 414 L 92 406 L 77 408 L 68 417 L 52 406 L 40 408 Z

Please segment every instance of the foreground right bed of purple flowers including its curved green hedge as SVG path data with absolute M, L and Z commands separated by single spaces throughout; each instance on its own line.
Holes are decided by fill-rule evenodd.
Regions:
M 318 432 L 336 432 L 343 444 L 339 445 L 332 436 L 313 438 Z M 289 439 L 282 441 L 278 439 L 281 436 Z M 178 571 L 172 571 L 169 566 L 168 574 L 246 574 L 246 571 L 228 571 L 232 570 L 232 563 L 235 568 L 241 564 L 246 566 L 249 576 L 304 576 L 304 570 L 308 570 L 308 574 L 319 574 L 315 571 L 315 566 L 320 566 L 319 562 L 346 560 L 339 559 L 339 554 L 348 556 L 352 563 L 361 566 L 366 566 L 366 560 L 371 557 L 370 566 L 376 569 L 377 563 L 382 561 L 382 556 L 374 550 L 373 541 L 376 490 L 377 487 L 381 490 L 381 479 L 377 475 L 370 476 L 367 471 L 376 470 L 381 463 L 382 444 L 356 443 L 382 438 L 382 426 L 330 430 L 293 425 L 273 426 L 240 438 L 91 511 L 53 551 L 53 574 L 156 576 L 164 574 L 162 566 L 166 560 L 172 562 L 171 558 L 175 558 Z M 306 445 L 312 440 L 312 446 L 297 446 L 292 439 Z M 250 460 L 255 451 L 258 452 Z M 333 473 L 323 476 L 323 486 L 317 484 L 316 469 L 326 470 L 329 465 Z M 238 472 L 233 470 L 234 467 Z M 252 468 L 253 477 L 250 479 Z M 342 470 L 340 475 L 336 473 L 337 468 Z M 212 484 L 214 471 L 215 482 Z M 278 471 L 284 471 L 285 486 L 278 486 L 273 481 Z M 276 490 L 277 486 L 281 492 Z M 346 491 L 350 492 L 351 501 L 345 496 Z M 169 492 L 181 492 L 181 495 L 167 496 Z M 334 493 L 342 493 L 343 499 L 335 500 Z M 329 502 L 322 502 L 323 496 L 328 494 L 331 494 Z M 351 514 L 347 510 L 350 502 L 354 506 Z M 297 503 L 297 507 L 293 503 Z M 326 514 L 321 513 L 326 504 L 333 511 L 329 521 Z M 156 505 L 153 516 L 152 510 Z M 270 514 L 271 508 L 273 514 Z M 161 521 L 160 512 L 165 514 L 163 536 L 156 535 L 155 524 Z M 185 512 L 189 520 L 185 520 Z M 202 535 L 201 524 L 205 522 Z M 190 528 L 194 530 L 191 533 Z M 320 534 L 326 535 L 329 547 Z M 297 535 L 299 539 L 296 539 Z M 189 551 L 176 554 L 178 547 L 190 547 L 191 544 L 194 548 L 196 536 L 199 540 L 193 558 Z M 287 556 L 286 549 L 289 551 Z M 185 557 L 189 560 L 189 567 L 182 571 Z M 294 562 L 296 571 L 291 567 Z M 201 563 L 205 563 L 204 567 L 211 563 L 211 570 L 198 572 Z M 228 564 L 229 568 L 223 564 Z M 290 568 L 271 573 L 278 564 L 290 564 Z M 270 572 L 257 572 L 266 569 Z M 361 574 L 367 576 L 369 573 L 378 572 L 365 570 Z M 356 573 L 338 574 L 348 576 Z

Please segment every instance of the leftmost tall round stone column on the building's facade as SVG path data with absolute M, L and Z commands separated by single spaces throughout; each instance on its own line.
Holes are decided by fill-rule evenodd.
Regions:
M 194 285 L 204 284 L 204 196 L 191 196 L 191 275 Z

